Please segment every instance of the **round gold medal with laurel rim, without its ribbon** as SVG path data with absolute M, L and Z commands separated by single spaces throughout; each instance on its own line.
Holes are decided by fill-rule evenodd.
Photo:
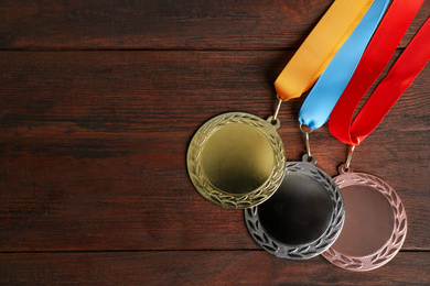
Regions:
M 244 209 L 267 200 L 282 183 L 287 166 L 279 127 L 272 117 L 262 120 L 244 112 L 207 121 L 187 152 L 194 187 L 225 208 Z

